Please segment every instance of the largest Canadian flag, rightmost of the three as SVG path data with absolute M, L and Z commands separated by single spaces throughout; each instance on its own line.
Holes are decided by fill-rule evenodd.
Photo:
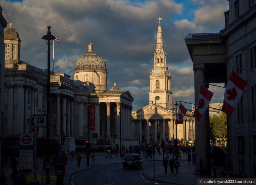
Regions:
M 225 112 L 228 116 L 231 116 L 236 104 L 243 94 L 245 86 L 246 81 L 232 71 L 227 82 L 221 111 Z

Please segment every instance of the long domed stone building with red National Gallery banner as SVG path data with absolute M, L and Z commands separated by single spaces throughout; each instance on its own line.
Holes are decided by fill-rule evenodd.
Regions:
M 47 70 L 20 60 L 21 39 L 11 23 L 4 31 L 4 43 L 6 121 L 2 138 L 7 145 L 18 144 L 21 134 L 31 134 L 29 120 L 33 115 L 47 114 Z M 107 74 L 105 62 L 94 53 L 91 42 L 88 52 L 74 66 L 74 80 L 65 73 L 51 71 L 50 137 L 61 142 L 64 134 L 67 152 L 84 146 L 88 139 L 93 146 L 120 146 L 120 141 L 125 146 L 138 143 L 131 116 L 134 99 L 116 84 L 108 90 Z M 40 128 L 37 136 L 46 137 L 46 128 Z

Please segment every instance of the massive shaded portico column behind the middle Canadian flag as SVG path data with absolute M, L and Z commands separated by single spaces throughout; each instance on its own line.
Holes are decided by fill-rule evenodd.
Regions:
M 198 65 L 194 66 L 194 79 L 195 79 L 195 103 L 198 102 L 199 91 L 201 84 L 199 82 L 205 83 L 204 76 L 204 66 Z M 196 68 L 196 69 L 195 69 Z M 208 87 L 206 87 L 208 88 Z M 200 118 L 200 121 L 196 121 L 195 124 L 195 132 L 197 133 L 195 136 L 195 147 L 196 147 L 196 169 L 195 173 L 200 172 L 200 159 L 204 161 L 210 161 L 210 134 L 209 129 L 210 125 L 205 124 L 209 122 L 209 109 L 205 111 L 205 113 Z M 203 147 L 202 147 L 203 146 Z M 205 168 L 209 169 L 210 164 L 205 164 Z

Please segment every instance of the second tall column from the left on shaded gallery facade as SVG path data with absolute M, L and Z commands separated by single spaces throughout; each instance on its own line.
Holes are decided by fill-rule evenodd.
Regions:
M 14 135 L 16 134 L 23 134 L 23 125 L 24 125 L 24 84 L 18 84 L 18 91 L 17 91 L 17 120 L 14 124 Z M 15 129 L 16 127 L 16 129 Z

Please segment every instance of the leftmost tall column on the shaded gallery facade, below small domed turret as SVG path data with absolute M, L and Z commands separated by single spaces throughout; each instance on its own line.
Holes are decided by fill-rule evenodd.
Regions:
M 13 87 L 14 84 L 7 84 L 8 89 L 8 135 L 13 135 Z

